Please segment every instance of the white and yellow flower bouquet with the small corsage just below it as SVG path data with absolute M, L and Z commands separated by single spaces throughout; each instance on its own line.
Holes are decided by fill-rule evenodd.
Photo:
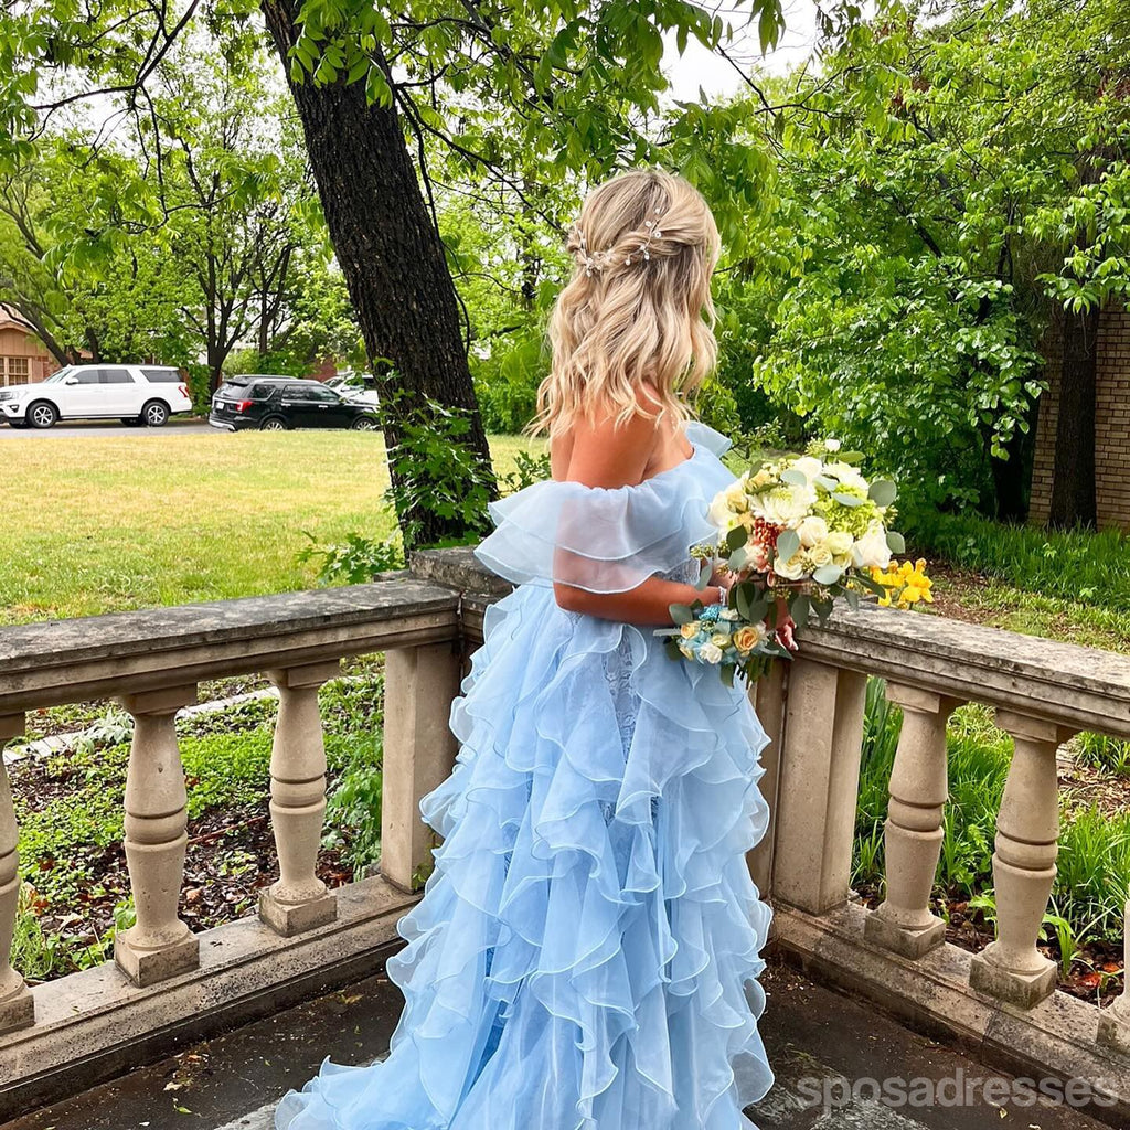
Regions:
M 727 684 L 736 672 L 754 680 L 770 660 L 791 658 L 776 631 L 782 607 L 803 627 L 812 614 L 826 619 L 836 600 L 858 608 L 864 592 L 899 607 L 932 599 L 924 560 L 892 560 L 905 549 L 889 529 L 896 487 L 868 481 L 862 459 L 823 440 L 803 455 L 750 468 L 714 498 L 710 518 L 724 556 L 714 546 L 692 553 L 703 563 L 699 588 L 714 571 L 732 583 L 724 607 L 671 605 L 676 627 L 658 634 L 672 659 L 716 666 Z

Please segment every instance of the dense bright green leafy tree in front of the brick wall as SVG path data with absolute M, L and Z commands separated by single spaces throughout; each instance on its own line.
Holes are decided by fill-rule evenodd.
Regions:
M 1024 515 L 1058 307 L 1058 521 L 1093 521 L 1095 312 L 1130 288 L 1127 9 L 887 5 L 775 92 L 802 108 L 749 271 L 755 371 L 938 501 Z

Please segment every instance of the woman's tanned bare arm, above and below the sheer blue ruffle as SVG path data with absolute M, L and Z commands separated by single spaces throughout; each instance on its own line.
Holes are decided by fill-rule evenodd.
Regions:
M 646 416 L 633 416 L 616 427 L 614 417 L 592 421 L 577 419 L 573 428 L 573 450 L 566 478 L 588 487 L 616 489 L 638 484 L 651 459 L 657 440 L 655 421 Z M 575 555 L 562 554 L 555 575 L 579 572 Z M 583 583 L 583 576 L 577 577 Z M 601 619 L 627 624 L 670 624 L 669 605 L 690 605 L 695 600 L 713 603 L 721 599 L 721 589 L 709 586 L 699 592 L 693 584 L 649 577 L 627 592 L 589 592 L 577 585 L 555 582 L 557 603 L 571 612 L 585 612 Z

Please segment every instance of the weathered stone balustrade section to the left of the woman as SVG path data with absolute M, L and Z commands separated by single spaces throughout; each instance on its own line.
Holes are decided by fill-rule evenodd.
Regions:
M 365 947 L 371 960 L 374 938 L 376 949 L 394 941 L 395 918 L 414 897 L 398 892 L 414 889 L 431 858 L 418 801 L 451 771 L 455 755 L 446 723 L 462 672 L 459 603 L 451 588 L 398 574 L 348 589 L 0 631 L 0 749 L 24 733 L 26 712 L 42 706 L 112 697 L 133 719 L 123 803 L 136 907 L 136 923 L 114 939 L 116 985 L 102 970 L 97 979 L 84 972 L 27 986 L 10 965 L 18 829 L 0 763 L 0 1121 L 46 1077 L 66 1071 L 69 1059 L 105 1052 L 103 1069 L 87 1071 L 84 1083 L 112 1071 L 121 1057 L 111 1054 L 112 1026 L 98 1023 L 107 1015 L 120 1022 L 124 1048 L 139 1023 L 131 1008 L 138 1016 L 148 1009 L 145 1023 L 154 1028 L 184 1028 L 193 1007 L 218 1015 L 242 1001 L 251 1015 L 245 990 L 264 997 L 285 982 L 284 955 L 296 967 L 305 962 L 314 976 L 341 954 L 356 965 Z M 346 895 L 328 890 L 316 873 L 325 810 L 318 692 L 344 658 L 373 652 L 385 653 L 388 696 L 382 873 L 350 885 L 371 906 L 359 907 L 349 893 L 339 921 Z M 249 673 L 264 675 L 279 696 L 269 806 L 279 878 L 261 892 L 258 921 L 238 924 L 242 933 L 193 933 L 177 915 L 188 808 L 175 720 L 195 702 L 202 678 Z M 379 911 L 389 921 L 376 929 Z M 271 942 L 271 936 L 288 941 Z M 240 1015 L 240 1008 L 227 1011 L 228 1020 Z

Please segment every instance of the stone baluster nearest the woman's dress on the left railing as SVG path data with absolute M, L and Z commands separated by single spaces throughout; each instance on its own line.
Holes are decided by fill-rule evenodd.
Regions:
M 318 849 L 325 815 L 325 746 L 318 690 L 340 673 L 340 663 L 269 671 L 279 690 L 271 748 L 271 826 L 279 878 L 259 896 L 259 916 L 289 938 L 332 922 L 337 896 L 318 878 Z

